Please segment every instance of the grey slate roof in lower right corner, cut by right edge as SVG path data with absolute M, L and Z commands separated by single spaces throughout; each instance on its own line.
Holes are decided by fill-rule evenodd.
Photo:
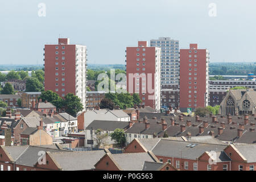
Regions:
M 256 162 L 256 144 L 242 144 L 235 147 L 245 157 L 247 163 Z

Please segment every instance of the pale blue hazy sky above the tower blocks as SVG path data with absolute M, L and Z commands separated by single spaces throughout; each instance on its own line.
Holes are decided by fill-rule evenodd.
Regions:
M 180 48 L 198 43 L 210 62 L 256 61 L 255 8 L 255 0 L 1 0 L 0 64 L 43 64 L 44 44 L 59 35 L 87 46 L 88 63 L 125 64 L 126 46 L 160 36 Z

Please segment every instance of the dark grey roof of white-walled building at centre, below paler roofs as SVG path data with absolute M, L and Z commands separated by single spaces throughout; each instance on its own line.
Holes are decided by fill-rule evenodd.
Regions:
M 104 131 L 114 131 L 115 129 L 125 129 L 129 127 L 129 122 L 94 120 L 86 127 L 86 130 L 90 130 L 91 127 L 93 130 L 102 129 Z

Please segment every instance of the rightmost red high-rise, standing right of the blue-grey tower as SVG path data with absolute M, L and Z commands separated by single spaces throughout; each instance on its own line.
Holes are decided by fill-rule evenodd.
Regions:
M 180 110 L 208 105 L 209 51 L 190 44 L 180 49 Z

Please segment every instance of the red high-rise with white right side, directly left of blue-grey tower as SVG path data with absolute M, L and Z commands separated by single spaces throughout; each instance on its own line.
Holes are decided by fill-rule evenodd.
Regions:
M 126 48 L 127 92 L 139 93 L 142 105 L 160 110 L 160 51 L 139 41 Z

